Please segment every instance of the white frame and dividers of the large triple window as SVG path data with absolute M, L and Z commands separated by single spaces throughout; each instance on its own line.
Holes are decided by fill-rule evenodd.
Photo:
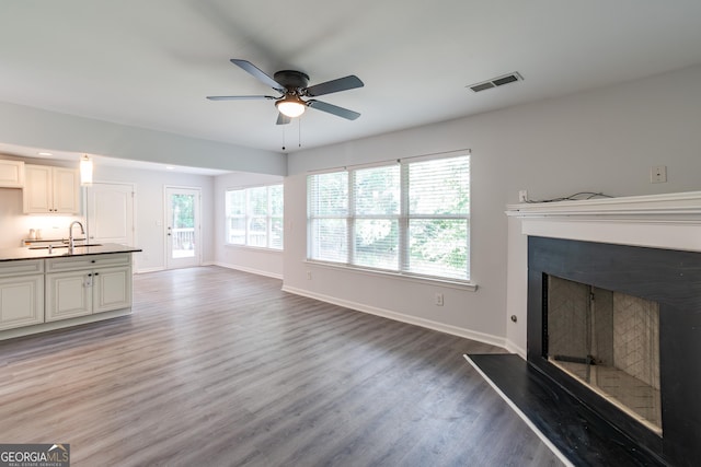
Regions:
M 410 196 L 407 192 L 409 188 L 409 171 L 410 166 L 413 163 L 432 161 L 432 160 L 448 160 L 448 159 L 457 159 L 457 157 L 466 157 L 467 159 L 467 212 L 463 213 L 411 213 L 410 212 Z M 470 206 L 471 206 L 471 177 L 470 177 L 470 163 L 471 163 L 471 151 L 470 150 L 459 150 L 447 153 L 439 154 L 430 154 L 424 156 L 414 156 L 414 157 L 405 157 L 393 161 L 384 161 L 375 164 L 364 164 L 356 166 L 346 166 L 335 170 L 329 171 L 320 171 L 308 174 L 307 177 L 307 225 L 308 225 L 308 235 L 307 235 L 307 262 L 309 264 L 319 264 L 330 267 L 338 267 L 338 268 L 347 268 L 347 269 L 356 269 L 364 270 L 368 272 L 376 272 L 381 275 L 391 275 L 391 276 L 400 276 L 404 278 L 413 278 L 420 280 L 430 280 L 430 281 L 439 281 L 446 283 L 457 283 L 461 285 L 468 285 L 475 289 L 476 287 L 472 285 L 471 282 L 471 214 L 470 214 Z M 374 214 L 374 213 L 358 213 L 355 201 L 358 198 L 357 192 L 354 189 L 354 184 L 356 180 L 356 175 L 358 171 L 372 168 L 372 167 L 387 167 L 391 165 L 399 165 L 400 167 L 400 176 L 399 176 L 399 203 L 400 209 L 398 214 Z M 334 215 L 323 215 L 313 212 L 312 203 L 314 196 L 314 187 L 312 186 L 314 183 L 315 176 L 323 174 L 335 174 L 335 173 L 347 173 L 347 203 L 346 203 L 346 214 L 334 214 Z M 335 261 L 330 260 L 323 257 L 318 257 L 315 254 L 314 245 L 314 223 L 318 220 L 323 219 L 338 219 L 345 220 L 346 222 L 346 240 L 345 244 L 347 247 L 347 253 L 345 254 L 345 260 Z M 356 245 L 356 232 L 355 227 L 357 225 L 358 220 L 390 220 L 398 223 L 398 265 L 397 268 L 383 268 L 383 267 L 372 267 L 360 265 L 357 261 L 357 245 Z M 425 273 L 425 272 L 416 272 L 412 270 L 410 267 L 410 224 L 411 221 L 414 220 L 460 220 L 464 221 L 466 238 L 464 238 L 464 254 L 467 256 L 466 259 L 466 277 L 452 277 L 447 275 L 434 275 L 434 273 Z

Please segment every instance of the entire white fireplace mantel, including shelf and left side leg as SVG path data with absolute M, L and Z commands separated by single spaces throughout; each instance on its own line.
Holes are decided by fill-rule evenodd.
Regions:
M 701 252 L 701 191 L 507 206 L 507 348 L 526 358 L 528 236 Z

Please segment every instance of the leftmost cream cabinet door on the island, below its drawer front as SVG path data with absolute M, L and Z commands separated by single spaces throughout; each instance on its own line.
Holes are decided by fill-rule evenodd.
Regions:
M 44 323 L 44 275 L 0 279 L 0 329 Z

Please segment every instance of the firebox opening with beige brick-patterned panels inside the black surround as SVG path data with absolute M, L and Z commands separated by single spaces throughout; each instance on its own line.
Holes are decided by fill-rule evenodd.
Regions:
M 659 304 L 547 275 L 548 361 L 662 436 Z

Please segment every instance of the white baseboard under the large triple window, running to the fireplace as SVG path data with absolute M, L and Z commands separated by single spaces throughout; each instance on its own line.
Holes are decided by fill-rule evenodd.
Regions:
M 485 332 L 479 332 L 470 329 L 464 329 L 458 326 L 447 325 L 445 323 L 434 322 L 426 318 L 420 318 L 417 316 L 405 315 L 403 313 L 392 312 L 390 310 L 378 308 L 376 306 L 369 306 L 363 303 L 350 302 L 347 300 L 337 299 L 335 296 L 324 295 L 320 293 L 310 292 L 303 289 L 297 289 L 289 285 L 283 285 L 283 291 L 294 293 L 295 295 L 307 296 L 309 299 L 319 300 L 321 302 L 331 303 L 334 305 L 343 306 L 346 308 L 355 310 L 370 315 L 381 316 L 383 318 L 393 319 L 395 322 L 406 323 L 414 326 L 421 326 L 427 329 L 437 330 L 452 336 L 463 337 L 466 339 L 476 340 L 479 342 L 489 343 L 506 348 L 506 339 L 498 336 L 489 335 Z

